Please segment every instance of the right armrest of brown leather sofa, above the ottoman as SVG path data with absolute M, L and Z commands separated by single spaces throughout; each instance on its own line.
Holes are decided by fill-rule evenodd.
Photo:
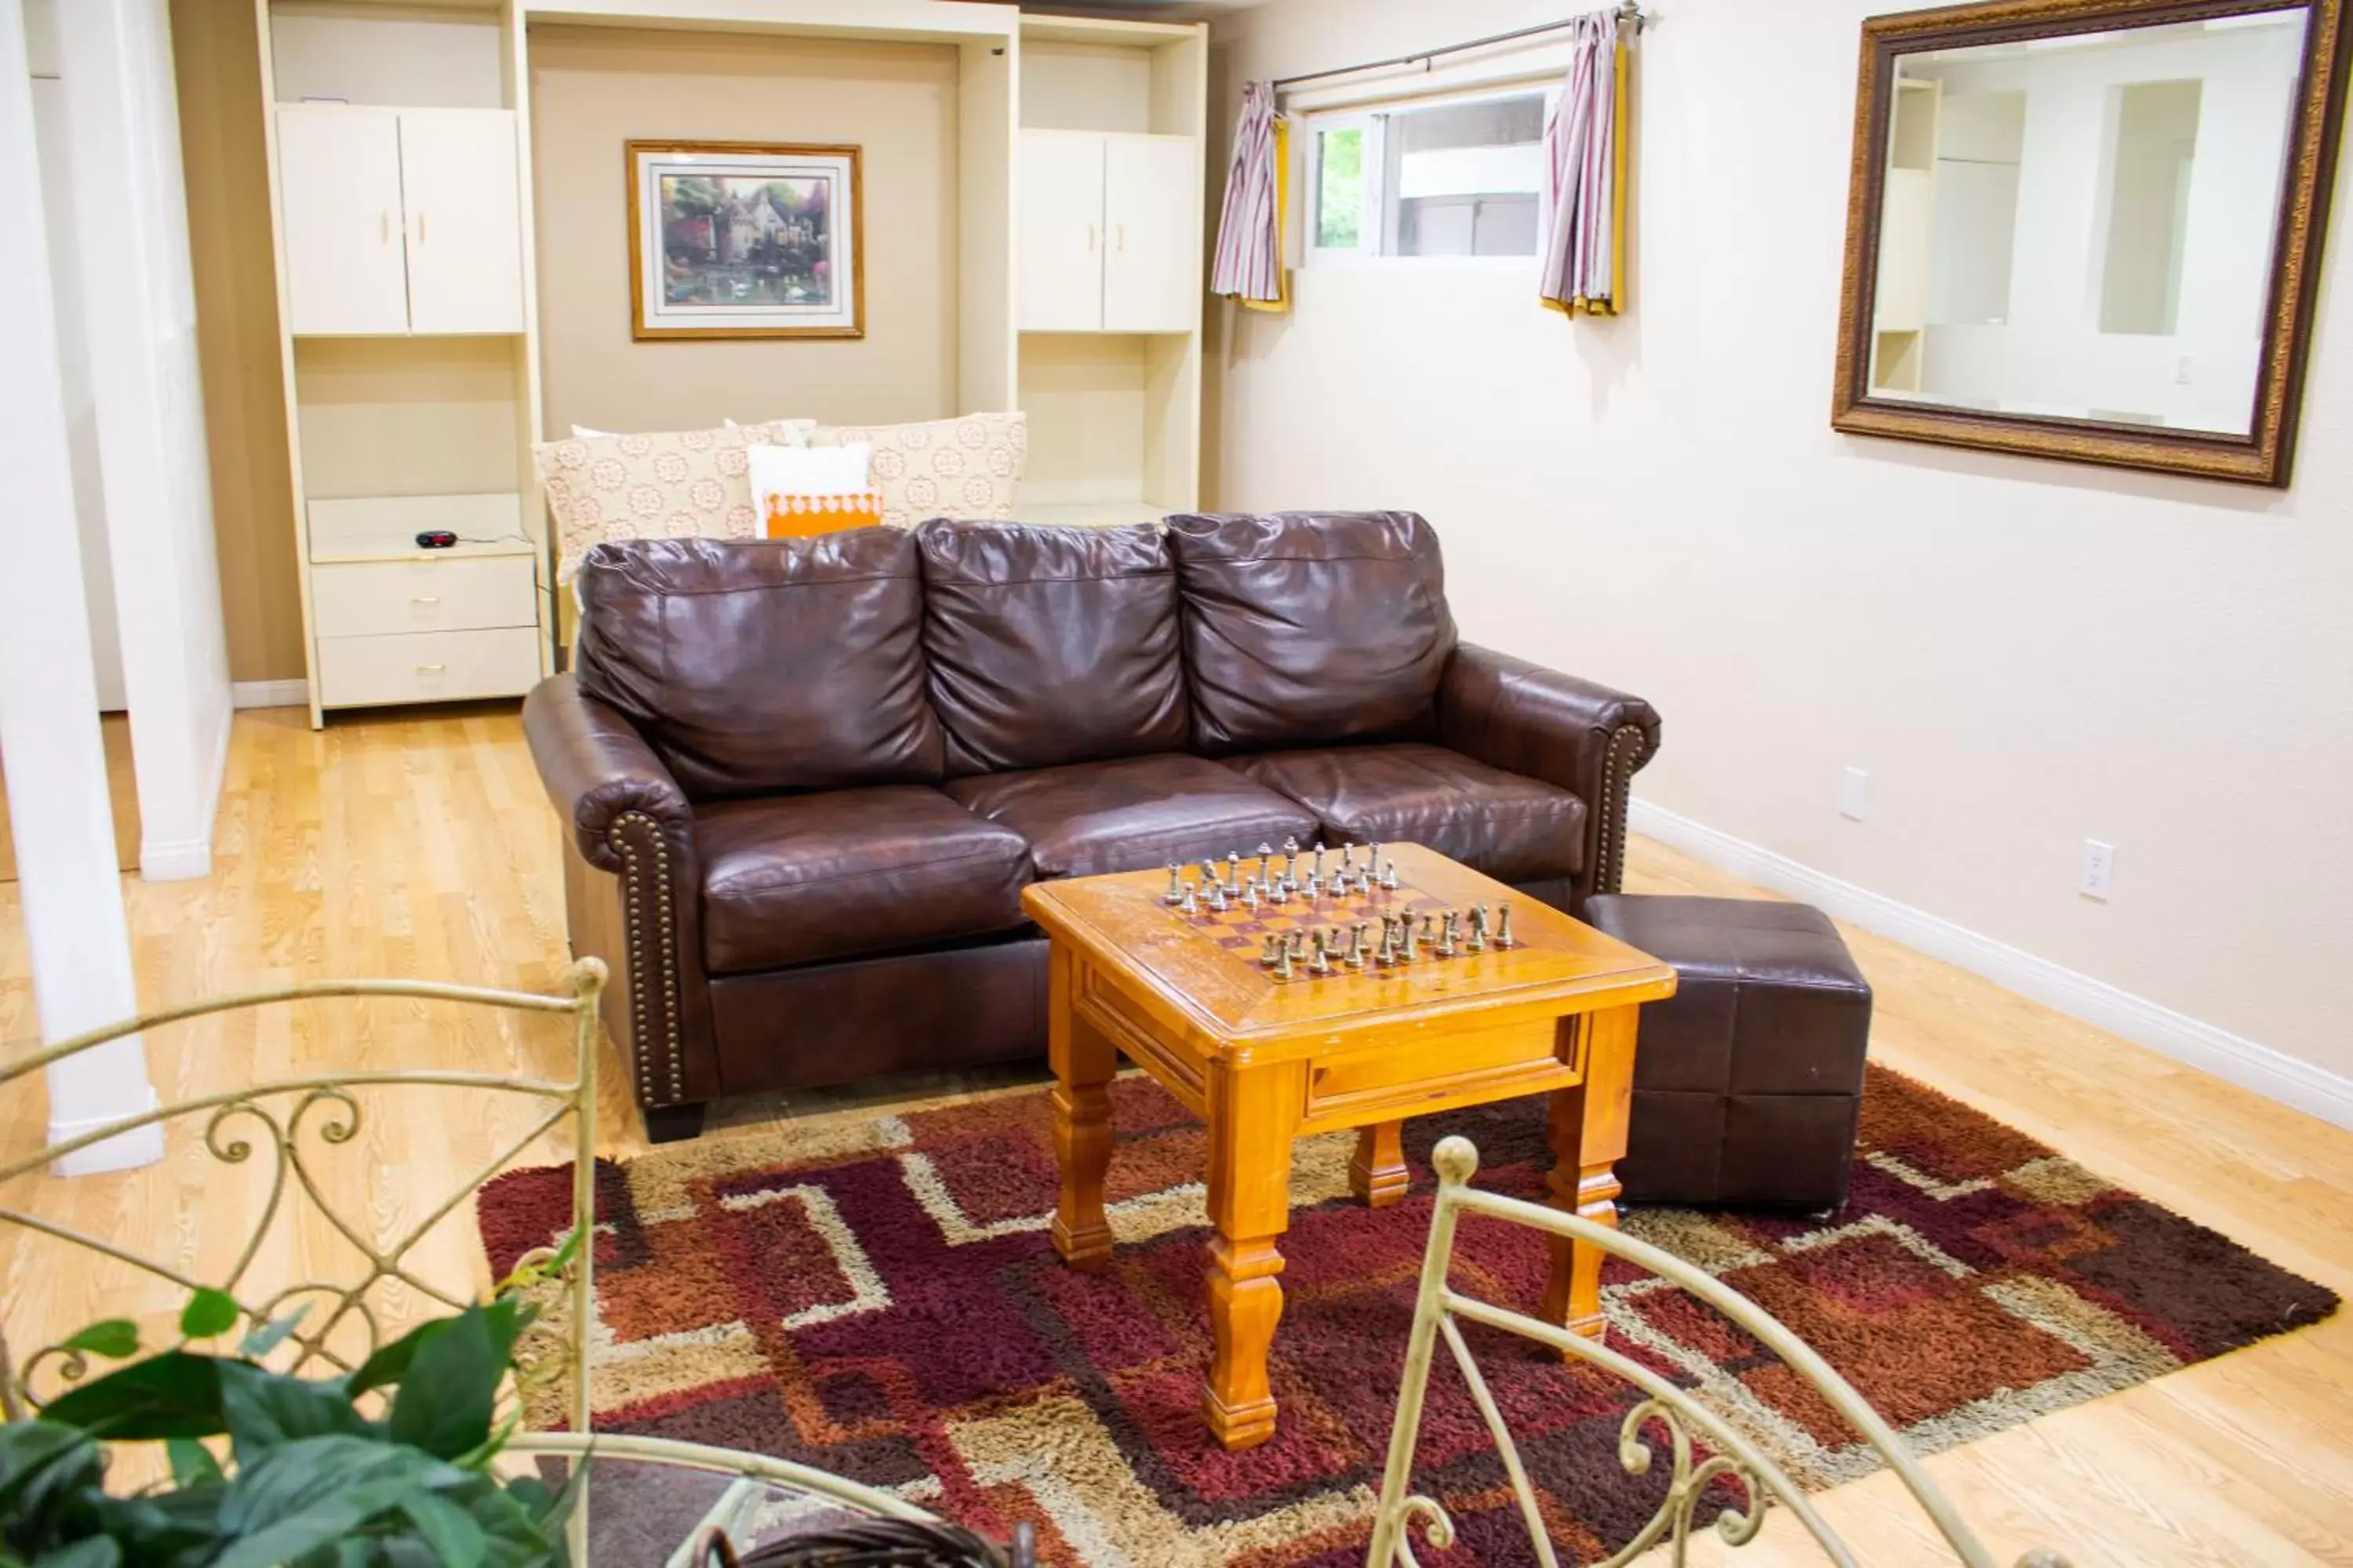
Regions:
M 1438 684 L 1438 733 L 1466 757 L 1586 802 L 1577 905 L 1619 891 L 1626 797 L 1635 771 L 1659 750 L 1659 712 L 1649 703 L 1466 642 Z

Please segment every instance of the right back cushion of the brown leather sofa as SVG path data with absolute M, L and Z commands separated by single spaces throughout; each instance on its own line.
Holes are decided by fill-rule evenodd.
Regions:
M 1414 512 L 1179 515 L 1195 750 L 1431 738 L 1454 651 Z

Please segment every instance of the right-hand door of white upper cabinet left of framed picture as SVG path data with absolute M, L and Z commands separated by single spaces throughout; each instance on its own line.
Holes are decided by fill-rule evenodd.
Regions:
M 506 108 L 402 108 L 409 331 L 522 331 L 522 193 Z

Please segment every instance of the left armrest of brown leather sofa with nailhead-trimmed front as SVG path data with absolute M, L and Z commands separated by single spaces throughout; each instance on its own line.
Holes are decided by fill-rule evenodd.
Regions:
M 718 1041 L 685 790 L 645 736 L 569 675 L 522 698 L 522 736 L 569 837 L 572 954 L 600 957 L 614 973 L 605 1025 L 628 1060 L 638 1105 L 652 1112 L 711 1100 Z

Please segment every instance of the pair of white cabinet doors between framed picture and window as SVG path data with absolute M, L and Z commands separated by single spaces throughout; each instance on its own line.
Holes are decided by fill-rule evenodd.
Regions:
M 1021 132 L 1021 331 L 1193 331 L 1200 141 Z

